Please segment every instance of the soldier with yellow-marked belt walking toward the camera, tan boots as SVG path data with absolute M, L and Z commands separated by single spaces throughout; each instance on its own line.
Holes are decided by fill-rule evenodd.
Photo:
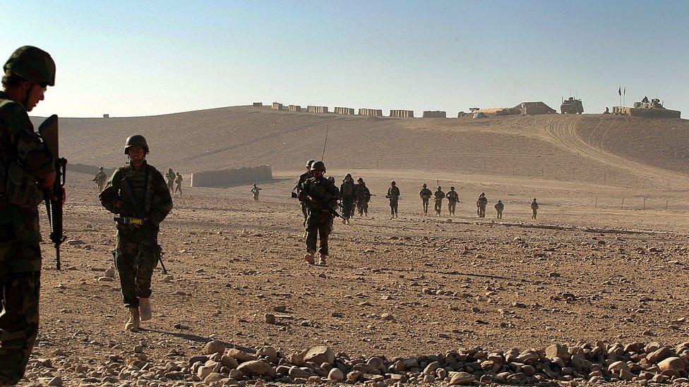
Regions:
M 170 191 L 162 174 L 146 162 L 148 153 L 142 135 L 128 137 L 124 154 L 129 163 L 117 168 L 100 192 L 102 206 L 119 215 L 115 264 L 124 306 L 129 309 L 124 328 L 135 332 L 140 321 L 151 319 L 150 281 L 160 259 L 158 231 L 172 210 Z

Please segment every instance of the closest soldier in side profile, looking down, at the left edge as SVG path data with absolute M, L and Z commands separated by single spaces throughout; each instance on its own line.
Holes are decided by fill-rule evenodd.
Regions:
M 3 66 L 0 92 L 0 385 L 24 376 L 38 334 L 41 188 L 55 181 L 55 161 L 34 132 L 28 111 L 55 85 L 55 62 L 20 47 Z

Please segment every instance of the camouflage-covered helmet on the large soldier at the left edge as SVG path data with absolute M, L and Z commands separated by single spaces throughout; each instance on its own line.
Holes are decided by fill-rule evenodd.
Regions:
M 2 69 L 5 75 L 14 74 L 41 86 L 55 85 L 55 61 L 50 54 L 37 47 L 19 47 Z

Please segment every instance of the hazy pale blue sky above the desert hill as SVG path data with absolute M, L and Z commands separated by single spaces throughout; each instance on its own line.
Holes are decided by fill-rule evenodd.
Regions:
M 13 1 L 2 61 L 49 51 L 32 112 L 140 116 L 279 101 L 445 110 L 577 93 L 689 111 L 689 1 Z

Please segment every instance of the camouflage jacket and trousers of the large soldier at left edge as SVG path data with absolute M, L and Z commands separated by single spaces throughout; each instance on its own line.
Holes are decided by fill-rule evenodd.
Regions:
M 36 180 L 54 171 L 24 107 L 0 92 L 0 385 L 24 376 L 38 334 L 42 196 Z

